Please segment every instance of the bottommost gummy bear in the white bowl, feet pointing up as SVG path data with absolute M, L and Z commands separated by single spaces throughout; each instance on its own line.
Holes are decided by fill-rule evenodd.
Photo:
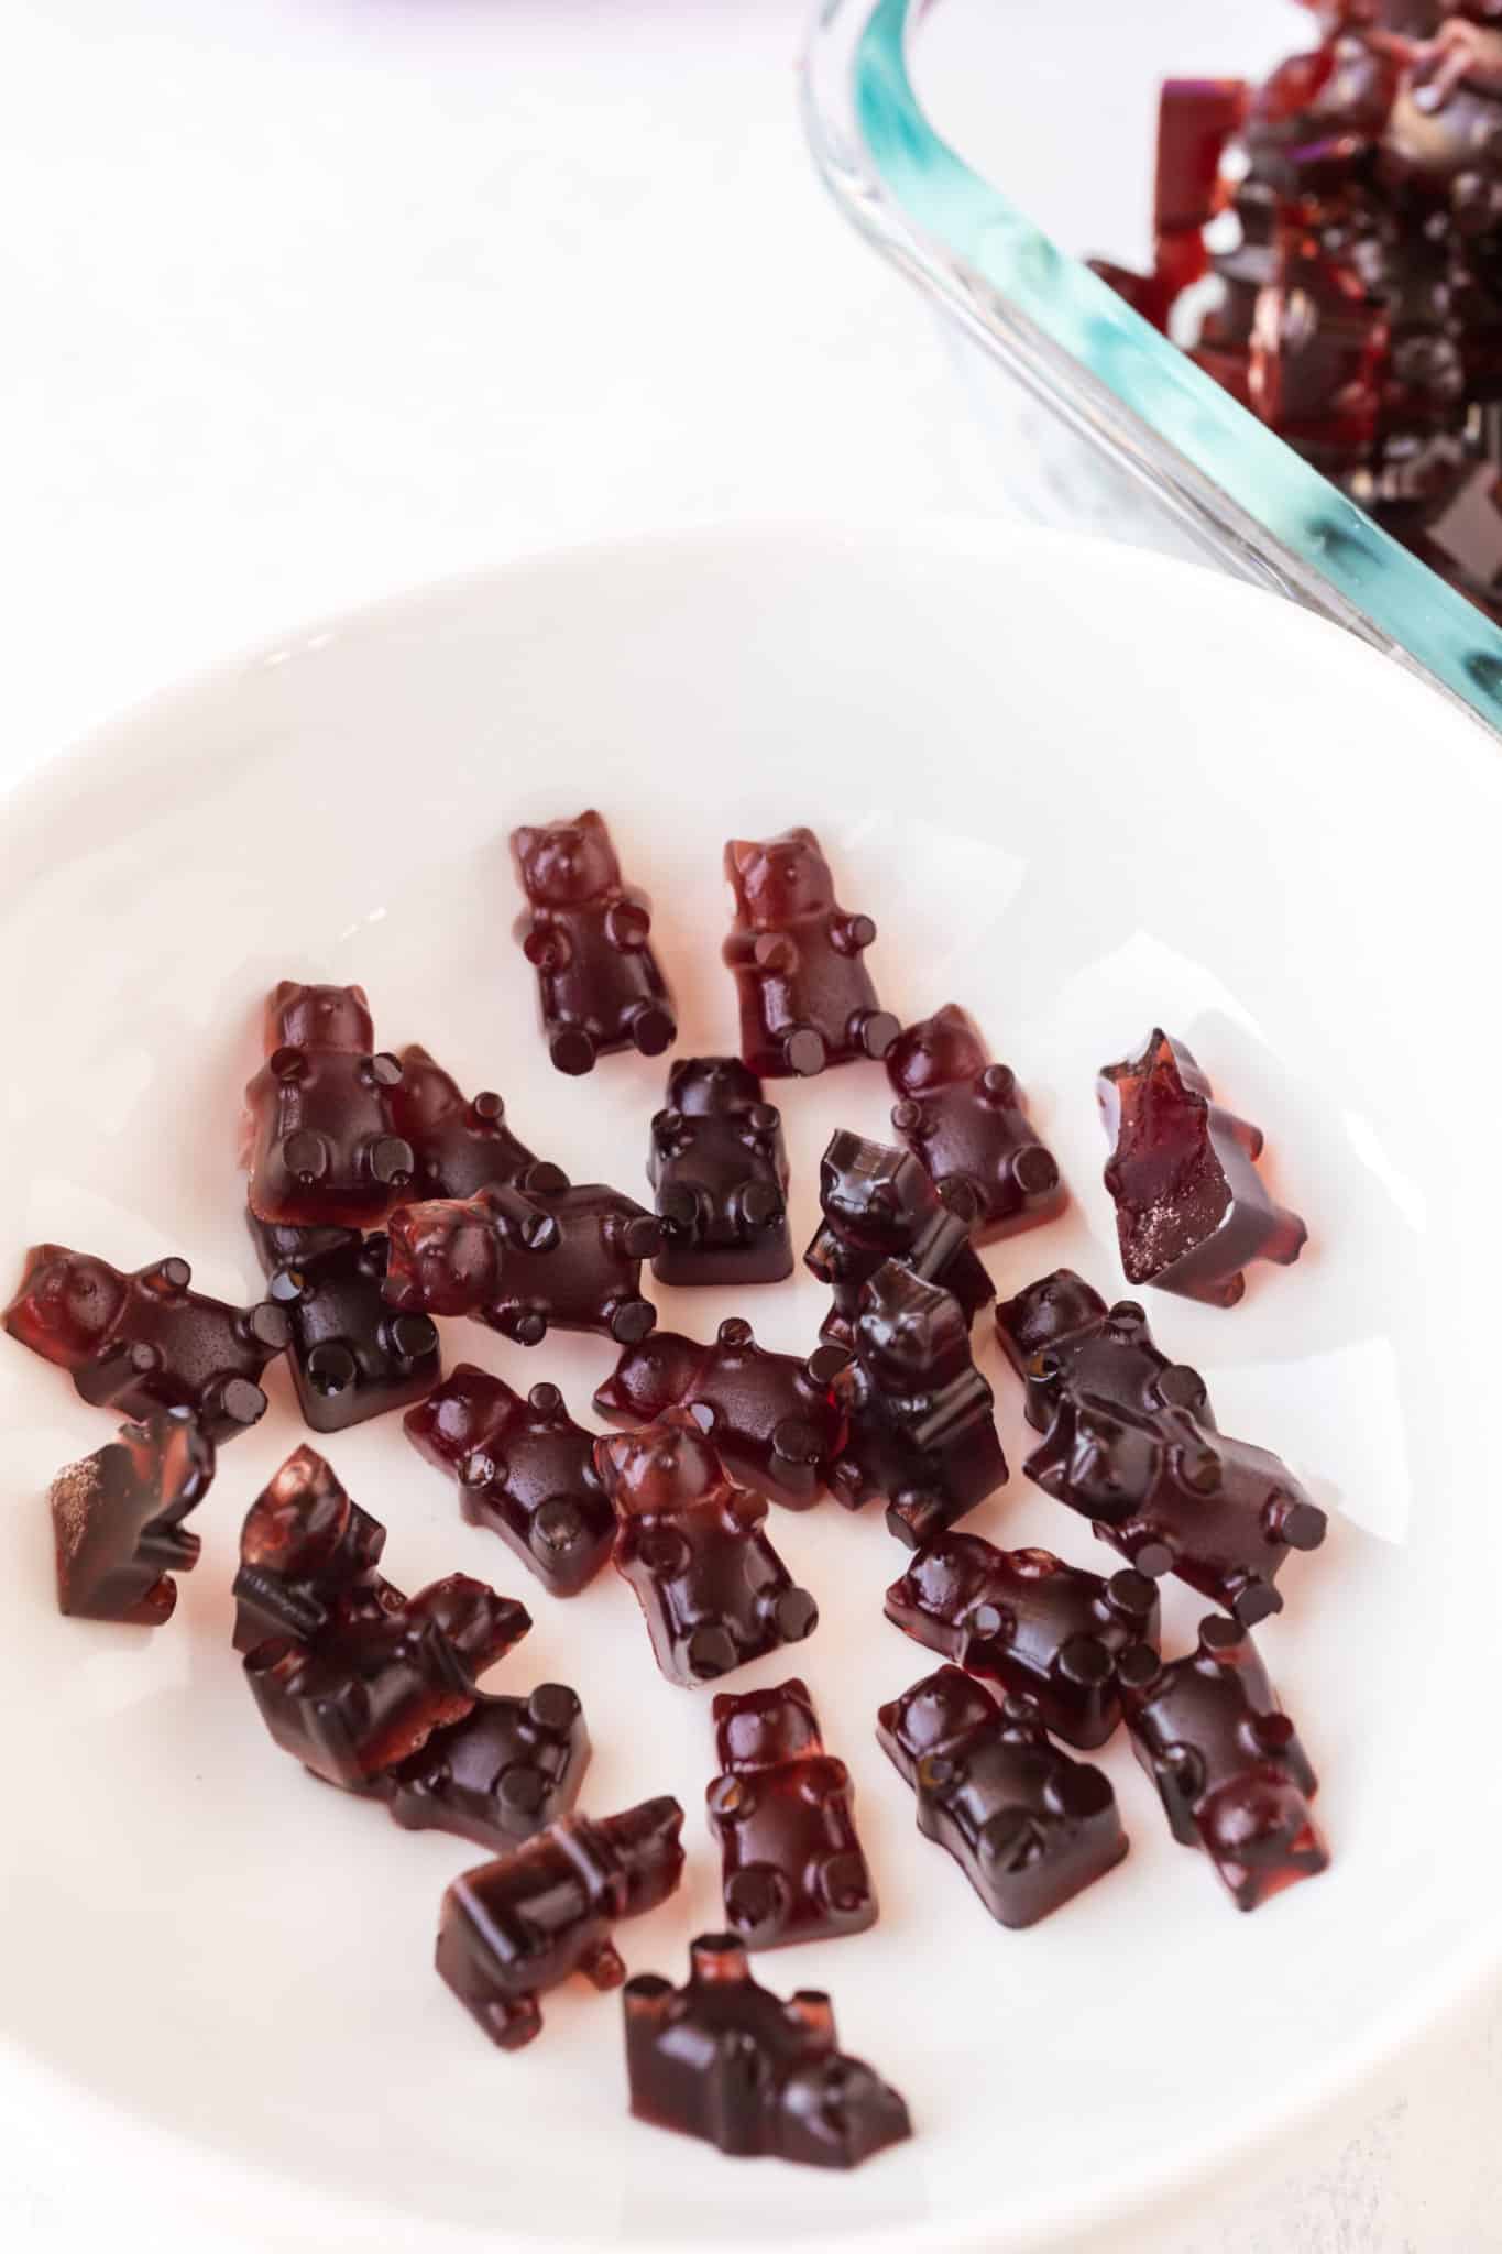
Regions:
M 640 1972 L 624 1988 L 626 2074 L 637 2121 L 703 2137 L 721 2153 L 856 2168 L 903 2137 L 908 2107 L 862 2058 L 835 2049 L 820 1988 L 784 2004 L 750 1977 L 745 1945 L 700 1934 L 689 1979 Z

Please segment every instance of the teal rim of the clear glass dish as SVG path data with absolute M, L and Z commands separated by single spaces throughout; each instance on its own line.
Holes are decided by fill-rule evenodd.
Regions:
M 874 0 L 853 52 L 851 92 L 865 153 L 903 216 L 1090 370 L 1290 559 L 1329 582 L 1380 640 L 1502 728 L 1502 633 L 1484 613 L 1133 313 L 1110 284 L 1058 250 L 935 133 L 908 74 L 908 32 L 921 5 Z M 826 7 L 824 20 L 833 14 Z

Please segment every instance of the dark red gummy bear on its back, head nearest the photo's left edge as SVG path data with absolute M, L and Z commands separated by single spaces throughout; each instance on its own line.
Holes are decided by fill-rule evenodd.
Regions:
M 187 1260 L 122 1276 L 65 1244 L 34 1244 L 5 1328 L 65 1368 L 95 1409 L 191 1409 L 209 1440 L 232 1440 L 266 1416 L 257 1379 L 286 1350 L 288 1321 L 270 1301 L 227 1307 L 191 1280 Z

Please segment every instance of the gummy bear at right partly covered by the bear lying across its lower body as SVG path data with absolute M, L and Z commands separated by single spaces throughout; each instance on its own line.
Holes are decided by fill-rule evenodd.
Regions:
M 1189 1409 L 1216 1429 L 1205 1379 L 1153 1343 L 1137 1301 L 1119 1298 L 1108 1307 L 1074 1269 L 1054 1269 L 1004 1301 L 995 1310 L 995 1332 L 1027 1388 L 1027 1422 L 1038 1431 L 1049 1429 L 1065 1397 L 1081 1393 L 1144 1416 Z

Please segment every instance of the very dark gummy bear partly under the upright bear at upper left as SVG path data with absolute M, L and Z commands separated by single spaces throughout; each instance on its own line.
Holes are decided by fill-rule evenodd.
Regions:
M 286 1310 L 297 1406 L 313 1431 L 347 1431 L 405 1409 L 439 1382 L 439 1334 L 426 1314 L 385 1303 L 390 1242 L 358 1231 L 320 1231 L 250 1219 L 270 1296 Z M 288 1242 L 304 1240 L 304 1244 Z M 288 1258 L 290 1253 L 290 1258 Z

